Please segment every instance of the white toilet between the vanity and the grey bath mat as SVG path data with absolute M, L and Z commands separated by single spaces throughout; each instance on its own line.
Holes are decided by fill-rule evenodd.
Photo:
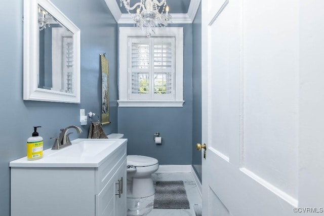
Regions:
M 124 134 L 112 133 L 108 138 L 123 138 Z M 155 158 L 142 155 L 127 156 L 127 197 L 143 198 L 155 194 L 152 173 L 158 169 Z

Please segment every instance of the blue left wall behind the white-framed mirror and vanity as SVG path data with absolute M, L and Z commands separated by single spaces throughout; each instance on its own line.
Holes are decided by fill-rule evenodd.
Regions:
M 81 30 L 81 103 L 56 103 L 23 100 L 23 1 L 2 1 L 0 19 L 0 209 L 2 216 L 10 215 L 9 162 L 26 156 L 26 140 L 32 126 L 42 126 L 39 134 L 44 148 L 52 147 L 50 137 L 59 129 L 80 125 L 79 109 L 100 113 L 101 81 L 99 54 L 109 60 L 110 125 L 106 133 L 117 132 L 117 25 L 104 0 L 51 0 Z M 89 124 L 82 126 L 88 135 Z M 32 197 L 31 197 L 32 198 Z

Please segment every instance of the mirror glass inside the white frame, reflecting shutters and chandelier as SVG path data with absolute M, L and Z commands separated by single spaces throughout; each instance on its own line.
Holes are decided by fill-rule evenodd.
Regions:
M 73 94 L 73 33 L 38 5 L 38 88 Z

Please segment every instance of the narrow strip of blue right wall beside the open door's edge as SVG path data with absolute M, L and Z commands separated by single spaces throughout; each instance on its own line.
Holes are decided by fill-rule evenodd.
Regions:
M 201 3 L 192 23 L 192 166 L 201 182 Z

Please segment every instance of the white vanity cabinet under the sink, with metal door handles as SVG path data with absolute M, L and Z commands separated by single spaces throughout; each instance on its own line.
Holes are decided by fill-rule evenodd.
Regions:
M 82 158 L 67 165 L 59 162 L 63 160 L 59 156 L 51 163 L 54 156 L 49 154 L 56 153 L 48 150 L 43 162 L 24 158 L 10 162 L 11 216 L 126 215 L 127 139 L 116 145 L 97 166 Z

